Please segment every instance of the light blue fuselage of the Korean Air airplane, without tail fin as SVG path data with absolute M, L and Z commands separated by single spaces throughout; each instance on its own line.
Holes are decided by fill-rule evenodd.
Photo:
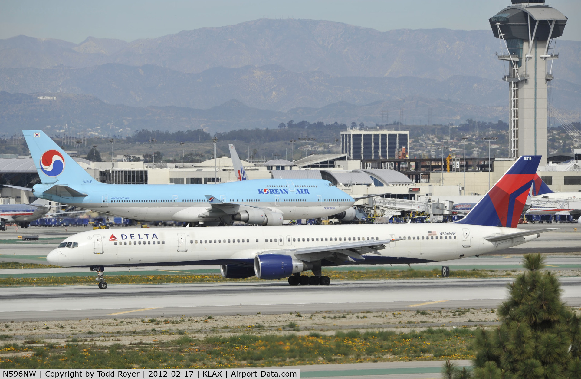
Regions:
M 354 199 L 326 180 L 256 179 L 221 184 L 104 184 L 83 181 L 71 196 L 37 184 L 34 195 L 98 212 L 146 221 L 232 221 L 242 210 L 282 214 L 285 220 L 332 216 Z M 91 182 L 91 183 L 87 183 Z M 64 185 L 64 184 L 63 184 Z M 72 187 L 72 186 L 71 186 Z M 270 224 L 270 223 L 269 223 Z

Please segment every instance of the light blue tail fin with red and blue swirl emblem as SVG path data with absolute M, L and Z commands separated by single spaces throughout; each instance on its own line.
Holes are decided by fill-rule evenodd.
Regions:
M 44 184 L 98 183 L 41 130 L 23 130 L 38 176 Z

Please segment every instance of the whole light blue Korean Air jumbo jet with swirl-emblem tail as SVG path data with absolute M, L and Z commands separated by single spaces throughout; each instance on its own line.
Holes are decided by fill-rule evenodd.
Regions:
M 282 225 L 283 220 L 333 215 L 350 220 L 355 216 L 354 199 L 327 180 L 256 179 L 210 185 L 99 183 L 42 131 L 22 133 L 42 182 L 34 185 L 33 193 L 50 201 L 144 221 Z

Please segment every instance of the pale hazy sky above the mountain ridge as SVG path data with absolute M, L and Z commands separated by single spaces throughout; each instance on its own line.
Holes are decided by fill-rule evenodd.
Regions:
M 381 31 L 400 28 L 490 30 L 510 0 L 0 1 L 0 38 L 25 34 L 81 42 L 88 36 L 133 41 L 261 17 L 331 20 Z M 581 0 L 547 5 L 569 17 L 563 39 L 581 41 Z

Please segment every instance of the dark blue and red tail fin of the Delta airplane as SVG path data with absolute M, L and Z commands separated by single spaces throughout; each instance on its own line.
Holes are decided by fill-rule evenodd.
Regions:
M 521 218 L 540 155 L 522 155 L 458 224 L 515 228 Z

